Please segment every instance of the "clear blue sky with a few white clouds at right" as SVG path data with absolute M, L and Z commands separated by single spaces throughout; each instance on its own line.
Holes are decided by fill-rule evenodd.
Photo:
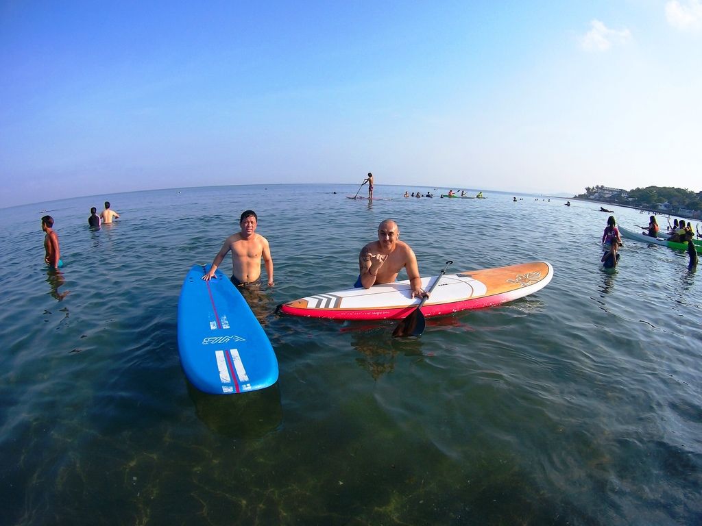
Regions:
M 0 0 L 0 208 L 220 184 L 702 190 L 702 0 Z

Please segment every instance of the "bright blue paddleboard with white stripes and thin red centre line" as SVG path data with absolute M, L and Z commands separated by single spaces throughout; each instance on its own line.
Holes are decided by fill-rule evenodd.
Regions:
M 194 265 L 178 300 L 178 350 L 185 376 L 200 391 L 231 394 L 272 386 L 273 347 L 246 299 L 219 269 Z

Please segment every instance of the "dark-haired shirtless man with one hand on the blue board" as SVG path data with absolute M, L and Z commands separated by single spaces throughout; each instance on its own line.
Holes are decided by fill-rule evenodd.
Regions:
M 268 240 L 256 234 L 258 216 L 253 210 L 246 210 L 241 214 L 239 227 L 241 232 L 232 234 L 225 239 L 222 248 L 215 256 L 212 267 L 207 274 L 202 276 L 205 281 L 211 280 L 217 267 L 222 263 L 225 255 L 232 251 L 232 283 L 237 287 L 252 287 L 260 285 L 261 258 L 265 263 L 268 274 L 268 286 L 273 283 L 273 258 L 270 257 Z

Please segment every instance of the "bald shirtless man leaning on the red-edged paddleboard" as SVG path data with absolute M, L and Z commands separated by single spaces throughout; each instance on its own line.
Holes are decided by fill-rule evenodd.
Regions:
M 392 283 L 402 269 L 407 272 L 412 297 L 428 297 L 422 288 L 417 257 L 404 241 L 399 241 L 399 227 L 393 220 L 378 225 L 378 241 L 371 241 L 361 249 L 358 259 L 357 288 L 371 288 L 381 283 Z

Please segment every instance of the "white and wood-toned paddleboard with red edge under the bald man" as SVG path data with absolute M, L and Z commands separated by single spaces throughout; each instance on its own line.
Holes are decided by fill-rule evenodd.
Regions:
M 422 307 L 422 313 L 429 318 L 511 302 L 541 290 L 552 276 L 553 267 L 543 261 L 444 274 Z M 422 288 L 429 288 L 436 279 L 436 276 L 422 278 Z M 303 297 L 282 304 L 279 311 L 312 318 L 385 320 L 404 318 L 419 302 L 420 299 L 411 297 L 406 280 Z

